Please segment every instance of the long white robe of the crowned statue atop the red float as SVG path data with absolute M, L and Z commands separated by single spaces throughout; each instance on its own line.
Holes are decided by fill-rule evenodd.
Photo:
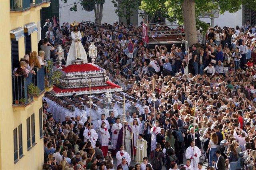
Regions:
M 88 63 L 87 62 L 87 55 L 86 52 L 84 50 L 84 47 L 81 43 L 81 41 L 78 41 L 82 39 L 82 35 L 80 33 L 80 31 L 77 31 L 76 33 L 74 31 L 71 32 L 71 38 L 72 38 L 72 43 L 70 45 L 70 49 L 68 52 L 68 57 L 67 57 L 67 61 L 66 61 L 66 66 L 72 64 L 73 60 L 76 59 L 83 59 L 84 63 Z

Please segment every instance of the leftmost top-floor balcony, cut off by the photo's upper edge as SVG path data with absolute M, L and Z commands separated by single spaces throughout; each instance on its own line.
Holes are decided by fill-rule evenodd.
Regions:
M 30 0 L 10 0 L 10 11 L 23 12 L 30 9 Z

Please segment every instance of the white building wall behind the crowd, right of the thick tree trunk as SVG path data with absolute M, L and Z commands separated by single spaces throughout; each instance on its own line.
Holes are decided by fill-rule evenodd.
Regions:
M 199 18 L 201 21 L 211 23 L 210 18 Z M 218 18 L 214 18 L 214 26 L 219 25 L 221 28 L 224 26 L 235 28 L 236 25 L 242 26 L 242 9 L 235 13 L 224 12 L 219 14 Z

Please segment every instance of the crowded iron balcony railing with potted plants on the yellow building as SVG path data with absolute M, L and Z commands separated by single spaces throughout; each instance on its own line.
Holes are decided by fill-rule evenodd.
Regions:
M 16 106 L 27 106 L 33 101 L 33 96 L 29 95 L 28 86 L 31 83 L 39 88 L 39 94 L 44 92 L 44 66 L 41 68 L 33 68 L 36 75 L 29 74 L 28 77 L 23 76 L 12 76 L 12 99 L 13 105 Z

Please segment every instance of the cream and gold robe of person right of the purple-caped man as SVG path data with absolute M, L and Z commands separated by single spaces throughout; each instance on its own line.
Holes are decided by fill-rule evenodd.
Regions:
M 145 139 L 137 140 L 135 161 L 140 164 L 143 162 L 143 158 L 147 156 L 147 147 L 148 142 Z

